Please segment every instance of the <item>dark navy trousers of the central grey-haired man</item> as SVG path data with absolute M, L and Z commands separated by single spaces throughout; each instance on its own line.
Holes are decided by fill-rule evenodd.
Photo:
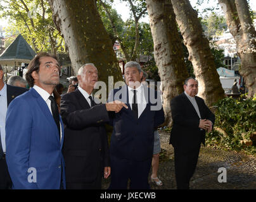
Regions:
M 131 180 L 130 189 L 150 189 L 148 174 L 151 159 L 136 162 L 110 157 L 111 183 L 108 189 L 127 189 L 128 179 Z

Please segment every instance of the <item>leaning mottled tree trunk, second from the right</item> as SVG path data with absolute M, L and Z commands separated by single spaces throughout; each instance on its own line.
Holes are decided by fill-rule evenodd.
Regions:
M 184 44 L 188 48 L 188 59 L 193 64 L 194 74 L 198 80 L 198 96 L 202 97 L 207 105 L 212 105 L 217 100 L 224 98 L 224 90 L 219 80 L 209 42 L 203 35 L 197 13 L 188 0 L 172 0 L 172 6 Z

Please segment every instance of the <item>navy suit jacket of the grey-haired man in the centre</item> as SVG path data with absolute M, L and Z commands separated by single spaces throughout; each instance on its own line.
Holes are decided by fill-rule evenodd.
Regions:
M 157 92 L 146 86 L 143 88 L 147 104 L 139 119 L 134 117 L 129 105 L 127 86 L 114 89 L 108 97 L 108 102 L 120 100 L 129 107 L 129 109 L 123 107 L 118 113 L 110 113 L 110 123 L 113 124 L 111 156 L 134 161 L 152 158 L 154 129 L 164 122 L 165 117 Z

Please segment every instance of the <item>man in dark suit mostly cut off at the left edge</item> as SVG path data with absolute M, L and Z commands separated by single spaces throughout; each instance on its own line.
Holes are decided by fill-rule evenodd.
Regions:
M 26 88 L 6 85 L 4 83 L 4 72 L 0 65 L 0 189 L 11 189 L 11 177 L 7 169 L 5 153 L 5 119 L 7 107 L 18 95 L 26 92 Z

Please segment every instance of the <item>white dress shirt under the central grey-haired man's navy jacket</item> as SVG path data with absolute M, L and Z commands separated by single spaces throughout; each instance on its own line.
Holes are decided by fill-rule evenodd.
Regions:
M 128 96 L 129 96 L 129 104 L 132 109 L 132 103 L 133 103 L 133 90 L 136 90 L 136 96 L 137 96 L 137 102 L 138 102 L 138 118 L 141 116 L 142 112 L 146 108 L 146 98 L 144 95 L 144 88 L 143 85 L 141 84 L 138 88 L 133 89 L 128 86 Z

